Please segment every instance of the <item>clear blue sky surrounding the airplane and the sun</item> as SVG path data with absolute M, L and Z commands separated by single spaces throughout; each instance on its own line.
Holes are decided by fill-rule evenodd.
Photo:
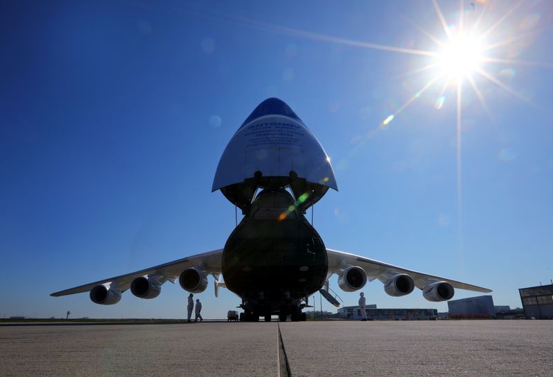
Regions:
M 553 10 L 517 3 L 462 7 L 467 27 L 485 12 L 487 46 L 505 43 L 471 72 L 478 92 L 462 81 L 459 161 L 456 85 L 417 95 L 443 68 L 393 50 L 447 41 L 431 1 L 3 1 L 0 316 L 184 316 L 178 284 L 107 307 L 48 295 L 223 247 L 234 207 L 210 192 L 214 172 L 267 97 L 332 158 L 339 192 L 315 206 L 326 247 L 521 306 L 518 288 L 553 278 Z M 459 30 L 458 3 L 438 4 Z M 204 317 L 224 317 L 240 300 L 209 283 Z M 379 307 L 447 310 L 364 291 Z

